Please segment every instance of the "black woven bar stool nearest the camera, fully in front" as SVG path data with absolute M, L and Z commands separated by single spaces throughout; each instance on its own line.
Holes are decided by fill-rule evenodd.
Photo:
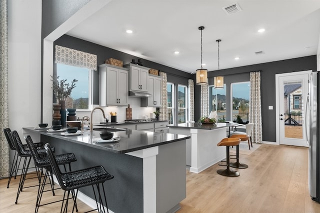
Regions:
M 62 173 L 58 167 L 56 159 L 53 156 L 53 153 L 50 148 L 50 144 L 46 143 L 44 145 L 44 148 L 45 148 L 46 153 L 50 159 L 50 163 L 51 163 L 51 166 L 54 170 L 56 178 L 57 178 L 61 188 L 64 190 L 63 200 L 65 198 L 65 193 L 67 191 L 65 205 L 63 207 L 63 201 L 62 201 L 60 212 L 62 212 L 62 209 L 63 209 L 63 212 L 67 211 L 68 198 L 69 198 L 70 192 L 71 192 L 71 195 L 72 195 L 72 198 L 74 201 L 73 208 L 72 208 L 72 211 L 73 211 L 74 207 L 76 208 L 75 200 L 76 200 L 76 196 L 77 196 L 77 192 L 78 192 L 78 190 L 77 190 L 75 193 L 74 189 L 78 189 L 80 187 L 84 187 L 84 186 L 88 186 L 88 185 L 92 185 L 92 189 L 93 189 L 93 193 L 94 193 L 94 197 L 95 197 L 95 203 L 96 203 L 97 208 L 93 209 L 93 210 L 98 210 L 98 212 L 105 212 L 104 207 L 103 207 L 102 196 L 100 193 L 100 190 L 102 189 L 103 195 L 104 195 L 104 202 L 105 202 L 106 211 L 108 212 L 108 206 L 106 203 L 103 182 L 106 180 L 112 179 L 113 175 L 109 174 L 101 165 Z M 102 188 L 100 187 L 100 184 L 101 184 Z M 99 195 L 98 200 L 97 200 L 97 197 L 95 196 L 94 185 L 96 186 L 97 193 Z M 99 201 L 99 204 L 98 204 L 98 201 Z M 76 209 L 76 211 L 77 211 L 77 209 Z

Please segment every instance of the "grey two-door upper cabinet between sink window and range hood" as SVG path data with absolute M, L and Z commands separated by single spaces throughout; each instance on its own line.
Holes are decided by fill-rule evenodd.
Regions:
M 128 69 L 110 64 L 99 65 L 100 106 L 128 104 Z

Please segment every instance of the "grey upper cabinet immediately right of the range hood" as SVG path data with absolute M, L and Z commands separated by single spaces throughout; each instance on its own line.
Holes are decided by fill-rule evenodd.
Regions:
M 148 92 L 151 97 L 141 98 L 141 106 L 161 107 L 161 77 L 158 75 L 149 74 L 148 77 Z

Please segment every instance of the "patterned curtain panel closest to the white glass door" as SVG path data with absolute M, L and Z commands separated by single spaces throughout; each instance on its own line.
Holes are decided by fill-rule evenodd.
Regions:
M 250 123 L 253 123 L 252 141 L 262 143 L 260 71 L 250 72 Z

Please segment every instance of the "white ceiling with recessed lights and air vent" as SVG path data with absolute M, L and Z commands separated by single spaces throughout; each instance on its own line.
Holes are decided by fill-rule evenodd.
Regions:
M 242 10 L 226 14 L 222 7 L 235 2 Z M 192 73 L 200 68 L 199 26 L 209 71 L 218 69 L 216 39 L 220 69 L 314 55 L 320 0 L 111 0 L 67 34 Z

